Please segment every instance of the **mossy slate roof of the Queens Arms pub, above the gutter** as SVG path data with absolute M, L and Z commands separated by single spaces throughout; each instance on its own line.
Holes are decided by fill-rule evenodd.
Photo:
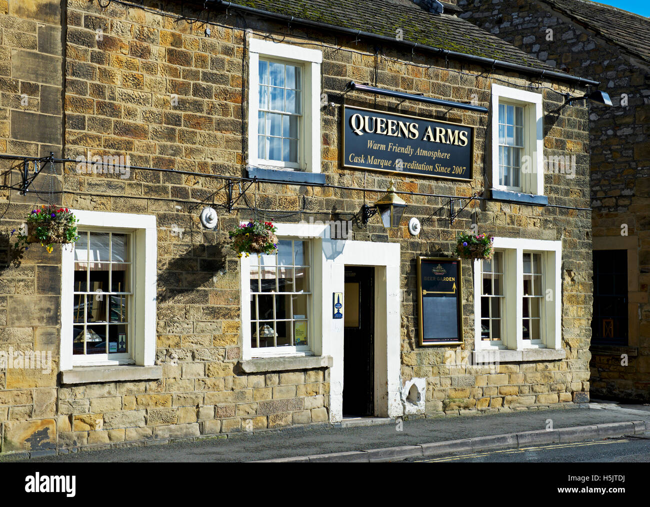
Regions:
M 239 0 L 234 3 L 276 14 L 360 30 L 533 68 L 556 70 L 520 49 L 451 14 L 435 15 L 412 0 Z

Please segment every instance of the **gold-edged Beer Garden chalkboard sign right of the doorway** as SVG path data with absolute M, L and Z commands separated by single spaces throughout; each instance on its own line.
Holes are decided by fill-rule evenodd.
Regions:
M 460 259 L 418 257 L 420 345 L 463 342 Z

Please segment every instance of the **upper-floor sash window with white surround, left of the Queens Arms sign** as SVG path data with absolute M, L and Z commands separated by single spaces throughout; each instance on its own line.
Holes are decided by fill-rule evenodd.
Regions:
M 250 40 L 248 163 L 320 172 L 322 52 Z

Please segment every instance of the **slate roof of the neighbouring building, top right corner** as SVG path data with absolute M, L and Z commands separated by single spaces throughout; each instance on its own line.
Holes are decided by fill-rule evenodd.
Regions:
M 594 33 L 650 62 L 650 20 L 589 0 L 540 0 Z

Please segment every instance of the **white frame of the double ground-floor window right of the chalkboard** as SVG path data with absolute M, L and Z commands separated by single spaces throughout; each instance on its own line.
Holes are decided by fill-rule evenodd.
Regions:
M 474 260 L 474 349 L 561 349 L 562 348 L 562 241 L 528 240 L 525 238 L 494 238 L 495 251 L 503 252 L 504 259 L 504 315 L 502 318 L 502 340 L 491 344 L 481 340 L 482 261 Z M 523 253 L 542 254 L 543 297 L 541 340 L 523 339 Z M 513 266 L 515 266 L 513 268 Z M 516 277 L 513 276 L 516 274 Z M 547 301 L 551 289 L 552 300 Z M 515 301 L 512 301 L 512 299 Z

